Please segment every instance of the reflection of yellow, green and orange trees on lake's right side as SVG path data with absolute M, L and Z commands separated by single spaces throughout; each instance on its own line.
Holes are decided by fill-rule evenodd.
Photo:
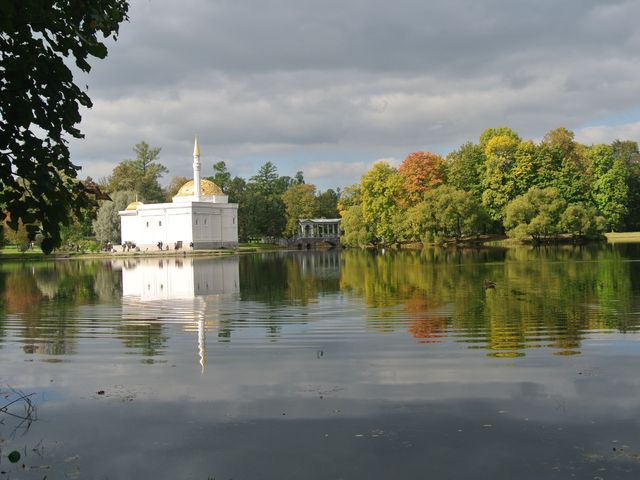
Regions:
M 406 328 L 418 341 L 444 331 L 495 356 L 525 348 L 580 348 L 592 329 L 626 331 L 640 290 L 628 246 L 342 254 L 341 288 L 375 309 L 376 329 Z M 635 258 L 635 257 L 634 257 Z M 485 290 L 491 279 L 496 289 Z M 637 303 L 637 301 L 635 301 Z

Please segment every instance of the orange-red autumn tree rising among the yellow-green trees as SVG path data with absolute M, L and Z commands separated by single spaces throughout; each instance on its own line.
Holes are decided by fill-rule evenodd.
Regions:
M 407 203 L 414 205 L 444 182 L 444 160 L 431 152 L 414 152 L 404 159 L 399 169 Z

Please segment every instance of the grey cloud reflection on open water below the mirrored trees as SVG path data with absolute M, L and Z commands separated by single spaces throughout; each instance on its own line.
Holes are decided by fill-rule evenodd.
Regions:
M 35 431 L 45 443 L 59 441 L 54 454 L 61 458 L 80 455 L 88 478 L 114 464 L 127 472 L 119 476 L 110 470 L 115 478 L 184 478 L 180 466 L 187 465 L 191 475 L 206 478 L 210 472 L 204 469 L 210 464 L 201 459 L 213 452 L 216 475 L 223 473 L 223 478 L 253 478 L 252 468 L 261 468 L 260 478 L 286 477 L 277 470 L 294 466 L 304 478 L 333 477 L 326 469 L 320 470 L 322 476 L 306 470 L 315 456 L 303 452 L 322 451 L 322 457 L 338 463 L 348 459 L 361 469 L 393 470 L 393 478 L 414 478 L 411 473 L 423 472 L 427 460 L 430 466 L 455 471 L 457 476 L 447 478 L 477 477 L 473 469 L 498 455 L 501 460 L 492 464 L 500 471 L 511 465 L 518 475 L 495 478 L 534 479 L 550 477 L 541 475 L 542 470 L 527 475 L 531 469 L 580 463 L 585 453 L 612 455 L 614 439 L 637 452 L 640 385 L 625 380 L 634 378 L 635 366 L 624 366 L 621 356 L 603 355 L 603 375 L 585 382 L 572 380 L 577 364 L 559 364 L 550 357 L 523 359 L 514 368 L 459 359 L 451 351 L 424 357 L 424 349 L 416 348 L 412 354 L 395 354 L 395 364 L 383 363 L 398 372 L 411 371 L 407 379 L 413 383 L 381 385 L 375 376 L 377 360 L 364 358 L 364 352 L 354 355 L 350 345 L 333 347 L 322 360 L 311 349 L 251 355 L 248 349 L 222 349 L 204 375 L 127 365 L 119 374 L 126 375 L 130 386 L 125 388 L 135 396 L 131 402 L 91 396 L 46 402 L 40 412 L 47 421 L 37 423 Z M 367 364 L 372 361 L 376 364 Z M 93 383 L 83 385 L 83 375 L 90 373 L 81 371 L 68 391 L 65 387 L 65 395 L 92 391 Z M 101 381 L 109 391 L 112 379 Z M 580 383 L 593 388 L 579 392 L 575 386 Z M 563 384 L 566 389 L 560 389 Z M 309 391 L 309 385 L 322 385 L 324 398 Z M 125 429 L 136 434 L 123 437 Z M 381 443 L 364 443 L 373 435 Z M 377 445 L 384 445 L 385 454 L 371 456 Z M 461 465 L 459 452 L 465 452 Z M 535 461 L 523 465 L 520 452 Z M 140 462 L 140 456 L 153 461 Z M 362 456 L 370 460 L 363 463 Z M 603 458 L 597 467 L 616 459 Z M 373 471 L 366 477 L 390 478 Z

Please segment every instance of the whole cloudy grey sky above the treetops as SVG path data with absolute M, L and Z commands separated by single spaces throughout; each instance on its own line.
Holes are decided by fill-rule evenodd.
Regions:
M 266 161 L 321 189 L 378 159 L 441 154 L 508 125 L 563 126 L 591 144 L 640 140 L 640 2 L 603 0 L 132 0 L 94 61 L 81 176 L 144 139 L 173 175 Z

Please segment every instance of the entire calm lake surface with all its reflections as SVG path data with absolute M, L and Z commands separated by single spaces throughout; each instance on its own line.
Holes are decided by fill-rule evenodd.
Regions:
M 633 244 L 4 262 L 0 480 L 637 479 L 639 327 Z

